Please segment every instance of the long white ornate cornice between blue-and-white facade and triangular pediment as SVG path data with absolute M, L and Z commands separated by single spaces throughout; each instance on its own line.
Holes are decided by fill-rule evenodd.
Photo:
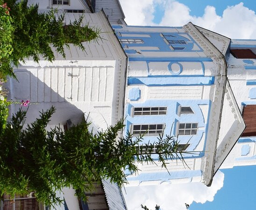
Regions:
M 210 57 L 215 64 L 214 95 L 212 96 L 212 106 L 209 116 L 205 156 L 202 158 L 201 163 L 201 170 L 203 171 L 202 182 L 210 186 L 214 175 L 214 160 L 220 133 L 222 105 L 227 81 L 227 64 L 222 53 L 191 22 L 186 24 L 183 28 L 192 36 L 204 50 L 206 56 Z

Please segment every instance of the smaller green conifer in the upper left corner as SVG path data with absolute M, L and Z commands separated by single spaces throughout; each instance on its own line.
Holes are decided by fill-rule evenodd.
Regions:
M 53 50 L 65 58 L 64 46 L 69 44 L 84 50 L 81 42 L 100 38 L 100 30 L 83 26 L 82 19 L 64 25 L 64 14 L 57 15 L 57 9 L 38 13 L 38 5 L 28 6 L 28 0 L 0 0 L 1 76 L 14 76 L 13 65 L 29 57 L 53 61 Z

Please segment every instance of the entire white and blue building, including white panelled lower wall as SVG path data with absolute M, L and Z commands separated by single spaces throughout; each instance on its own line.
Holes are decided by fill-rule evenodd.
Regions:
M 20 83 L 9 81 L 10 99 L 38 103 L 30 105 L 28 123 L 54 105 L 49 129 L 67 119 L 77 123 L 84 114 L 87 119 L 90 112 L 94 128 L 125 118 L 123 135 L 146 132 L 143 142 L 156 141 L 159 133 L 173 135 L 192 152 L 184 154 L 186 165 L 168 161 L 169 173 L 160 165 L 138 164 L 141 171 L 128 174 L 128 186 L 210 186 L 219 168 L 256 165 L 256 40 L 231 40 L 191 22 L 128 26 L 118 0 L 39 2 L 42 12 L 56 7 L 66 12 L 66 22 L 83 13 L 83 23 L 100 27 L 103 39 L 84 43 L 85 52 L 65 49 L 66 59 L 56 53 L 53 63 L 28 59 L 15 69 Z M 77 201 L 70 194 L 64 192 L 69 208 Z

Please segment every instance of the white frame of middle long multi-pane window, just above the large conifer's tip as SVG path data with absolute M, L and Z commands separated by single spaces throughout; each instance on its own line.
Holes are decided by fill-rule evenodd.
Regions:
M 150 129 L 150 126 L 153 126 L 153 125 L 156 125 L 156 129 Z M 157 129 L 158 125 L 162 125 L 162 129 Z M 134 126 L 140 126 L 139 130 L 135 130 L 135 132 L 139 132 L 139 133 L 134 133 Z M 148 126 L 148 128 L 147 129 L 142 129 L 142 126 Z M 162 135 L 164 133 L 165 124 L 164 123 L 158 123 L 158 124 L 133 124 L 131 127 L 132 127 L 131 133 L 134 136 L 139 136 L 139 135 L 143 135 L 143 134 L 144 134 L 144 136 L 158 136 L 159 133 L 160 133 L 160 135 Z M 149 133 L 150 131 L 151 131 L 151 133 Z M 152 133 L 152 131 L 155 131 L 155 133 Z M 157 131 L 161 131 L 161 132 L 157 133 Z

